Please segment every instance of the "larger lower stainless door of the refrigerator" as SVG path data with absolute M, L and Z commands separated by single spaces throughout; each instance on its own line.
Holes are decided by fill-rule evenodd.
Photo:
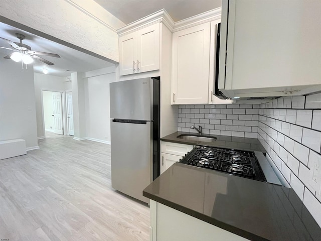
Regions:
M 111 120 L 111 186 L 148 203 L 142 190 L 152 181 L 152 123 L 131 124 Z

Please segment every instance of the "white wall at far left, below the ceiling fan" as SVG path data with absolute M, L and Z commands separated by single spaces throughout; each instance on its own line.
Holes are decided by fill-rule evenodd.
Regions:
M 38 148 L 33 66 L 0 58 L 0 141 L 22 138 Z

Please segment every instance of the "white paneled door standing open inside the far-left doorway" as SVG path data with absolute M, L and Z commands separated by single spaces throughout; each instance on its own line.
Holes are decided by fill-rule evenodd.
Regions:
M 62 119 L 62 100 L 60 92 L 52 93 L 52 104 L 54 117 L 54 133 L 63 135 L 63 119 Z

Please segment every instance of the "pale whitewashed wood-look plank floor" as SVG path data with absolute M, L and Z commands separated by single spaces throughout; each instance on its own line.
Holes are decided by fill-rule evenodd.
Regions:
M 46 134 L 0 160 L 0 240 L 149 240 L 149 208 L 111 188 L 110 145 Z

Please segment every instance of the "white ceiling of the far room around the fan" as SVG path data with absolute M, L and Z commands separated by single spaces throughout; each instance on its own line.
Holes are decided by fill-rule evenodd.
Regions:
M 48 39 L 39 37 L 37 35 L 28 33 L 26 31 L 17 29 L 15 27 L 12 27 L 10 25 L 0 22 L 0 37 L 9 39 L 13 42 L 19 42 L 19 39 L 16 37 L 15 33 L 20 33 L 25 35 L 26 39 L 23 40 L 22 43 L 29 45 L 31 49 L 34 51 L 56 53 L 60 55 L 61 58 L 42 56 L 43 58 L 54 63 L 54 65 L 52 66 L 49 66 L 41 61 L 35 60 L 33 63 L 34 72 L 37 72 L 37 73 L 42 73 L 43 68 L 46 68 L 48 69 L 48 74 L 50 75 L 68 77 L 70 76 L 71 72 L 87 72 L 87 71 L 101 69 L 101 68 L 114 65 L 105 60 L 98 59 L 96 57 L 85 54 L 78 50 L 55 43 Z M 10 45 L 1 39 L 0 39 L 0 46 L 10 48 Z M 11 50 L 0 48 L 0 58 L 5 57 L 12 52 L 13 51 Z M 13 60 L 7 59 L 6 61 L 13 61 Z M 18 67 L 18 64 L 17 64 L 17 67 Z M 19 67 L 21 67 L 21 65 Z

